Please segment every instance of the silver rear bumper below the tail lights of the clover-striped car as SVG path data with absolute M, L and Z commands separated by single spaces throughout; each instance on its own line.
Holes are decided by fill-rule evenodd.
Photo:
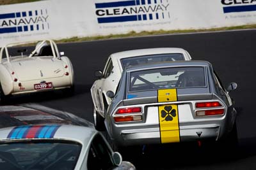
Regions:
M 218 141 L 228 134 L 234 125 L 236 112 L 228 111 L 227 115 L 204 120 L 194 120 L 192 122 L 179 122 L 179 129 L 167 131 L 167 142 L 161 134 L 159 124 L 129 123 L 116 124 L 111 121 L 108 124 L 106 118 L 107 131 L 110 138 L 116 145 L 147 145 L 161 143 L 175 143 L 187 141 Z M 176 132 L 174 132 L 176 131 Z M 164 131 L 166 132 L 166 131 Z M 175 139 L 172 134 L 176 134 Z M 165 140 L 165 141 L 164 141 Z M 169 140 L 169 141 L 168 141 Z

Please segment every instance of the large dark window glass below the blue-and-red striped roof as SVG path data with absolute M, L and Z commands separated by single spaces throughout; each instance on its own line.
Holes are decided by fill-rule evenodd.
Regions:
M 78 143 L 12 142 L 0 144 L 0 167 L 4 170 L 71 170 L 81 152 Z

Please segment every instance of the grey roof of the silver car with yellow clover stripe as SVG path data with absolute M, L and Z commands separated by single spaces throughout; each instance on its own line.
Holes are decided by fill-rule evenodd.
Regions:
M 159 67 L 193 67 L 193 66 L 211 66 L 211 63 L 204 60 L 182 60 L 182 61 L 168 61 L 168 62 L 159 62 L 159 63 L 152 63 L 152 64 L 143 64 L 138 66 L 131 66 L 128 67 L 125 71 L 137 71 L 143 69 L 154 69 Z

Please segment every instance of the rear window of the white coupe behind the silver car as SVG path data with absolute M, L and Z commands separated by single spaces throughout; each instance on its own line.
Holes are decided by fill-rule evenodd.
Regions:
M 184 60 L 184 56 L 182 53 L 164 53 L 164 54 L 156 54 L 156 55 L 143 55 L 138 57 L 129 57 L 125 59 L 121 59 L 123 69 L 131 66 L 138 66 L 143 64 L 152 64 L 158 62 L 169 62 L 169 61 L 177 61 Z

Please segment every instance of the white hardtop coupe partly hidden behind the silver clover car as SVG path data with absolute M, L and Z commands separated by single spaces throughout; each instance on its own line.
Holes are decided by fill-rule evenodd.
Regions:
M 176 60 L 191 60 L 191 56 L 182 48 L 148 48 L 111 54 L 103 73 L 95 72 L 95 76 L 99 80 L 96 80 L 91 88 L 95 128 L 99 131 L 104 130 L 104 117 L 111 102 L 106 93 L 108 91 L 116 92 L 124 69 L 131 66 Z

